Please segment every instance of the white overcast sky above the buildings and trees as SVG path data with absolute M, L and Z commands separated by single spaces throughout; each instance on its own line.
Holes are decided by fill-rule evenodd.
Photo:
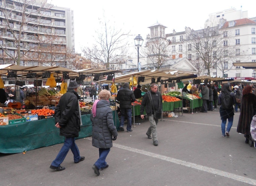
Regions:
M 185 27 L 199 30 L 209 14 L 230 8 L 248 11 L 249 17 L 256 17 L 255 0 L 195 0 L 195 1 L 146 1 L 146 0 L 48 0 L 58 7 L 71 8 L 74 11 L 75 51 L 81 53 L 81 47 L 92 46 L 93 36 L 99 28 L 99 18 L 103 11 L 105 18 L 115 21 L 115 29 L 130 31 L 130 44 L 140 34 L 143 39 L 150 33 L 149 26 L 156 22 L 167 28 L 165 34 L 185 31 Z

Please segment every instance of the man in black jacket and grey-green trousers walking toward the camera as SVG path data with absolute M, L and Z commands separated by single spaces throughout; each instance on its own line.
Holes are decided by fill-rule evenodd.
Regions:
M 149 122 L 150 122 L 150 127 L 148 128 L 147 131 L 147 136 L 148 139 L 152 139 L 153 138 L 153 144 L 154 146 L 158 145 L 158 141 L 157 141 L 157 132 L 156 132 L 156 125 L 158 123 L 158 119 L 154 117 L 154 113 L 158 114 L 159 112 L 162 111 L 162 95 L 161 93 L 159 93 L 157 91 L 158 86 L 156 85 L 156 83 L 151 84 L 151 89 L 149 92 L 147 92 L 141 102 L 141 107 L 140 107 L 140 117 L 141 119 L 144 119 L 144 108 L 146 107 L 146 113 L 148 115 L 149 118 Z M 152 137 L 151 137 L 151 133 L 152 133 Z

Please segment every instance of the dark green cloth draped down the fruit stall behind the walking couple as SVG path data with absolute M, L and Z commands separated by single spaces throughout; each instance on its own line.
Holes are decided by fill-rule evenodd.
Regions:
M 115 116 L 117 116 L 115 124 L 118 128 L 119 119 L 115 113 L 116 111 L 113 111 L 113 119 L 115 122 Z M 90 114 L 81 115 L 81 118 L 83 125 L 76 139 L 92 135 Z M 64 137 L 59 133 L 59 128 L 55 127 L 54 118 L 0 126 L 0 153 L 20 153 L 64 143 Z

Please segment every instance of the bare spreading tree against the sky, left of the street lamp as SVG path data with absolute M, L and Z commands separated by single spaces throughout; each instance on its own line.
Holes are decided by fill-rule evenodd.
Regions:
M 120 56 L 125 56 L 125 47 L 127 45 L 126 37 L 128 33 L 123 33 L 122 29 L 116 30 L 113 24 L 109 21 L 101 21 L 102 26 L 99 31 L 96 31 L 96 43 L 92 48 L 84 47 L 82 52 L 85 57 L 92 62 L 92 67 L 99 68 L 102 66 L 106 69 L 110 68 L 110 64 L 124 63 L 124 59 Z M 114 67 L 113 67 L 114 68 Z

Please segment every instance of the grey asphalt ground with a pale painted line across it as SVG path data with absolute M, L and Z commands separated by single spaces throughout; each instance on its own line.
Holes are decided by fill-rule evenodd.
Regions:
M 70 151 L 62 163 L 66 170 L 61 172 L 49 166 L 63 144 L 25 154 L 0 154 L 0 186 L 256 185 L 256 149 L 236 132 L 238 118 L 239 112 L 229 138 L 221 137 L 218 110 L 164 118 L 157 126 L 158 146 L 147 139 L 149 122 L 141 122 L 130 133 L 118 132 L 106 160 L 109 168 L 100 176 L 92 170 L 98 149 L 90 137 L 76 140 L 85 160 L 74 164 Z

